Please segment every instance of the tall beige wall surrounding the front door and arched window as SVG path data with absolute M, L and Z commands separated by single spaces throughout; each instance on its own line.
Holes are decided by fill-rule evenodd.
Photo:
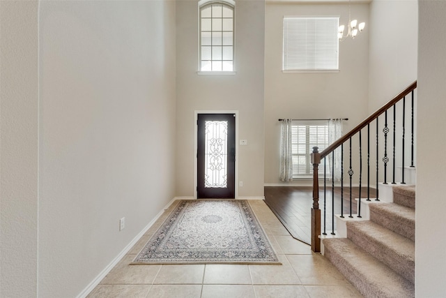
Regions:
M 177 13 L 176 194 L 194 195 L 194 111 L 236 110 L 238 140 L 248 143 L 238 148 L 238 181 L 243 181 L 238 196 L 263 197 L 265 2 L 236 1 L 236 75 L 197 74 L 198 1 L 177 1 L 176 10 L 181 12 Z

